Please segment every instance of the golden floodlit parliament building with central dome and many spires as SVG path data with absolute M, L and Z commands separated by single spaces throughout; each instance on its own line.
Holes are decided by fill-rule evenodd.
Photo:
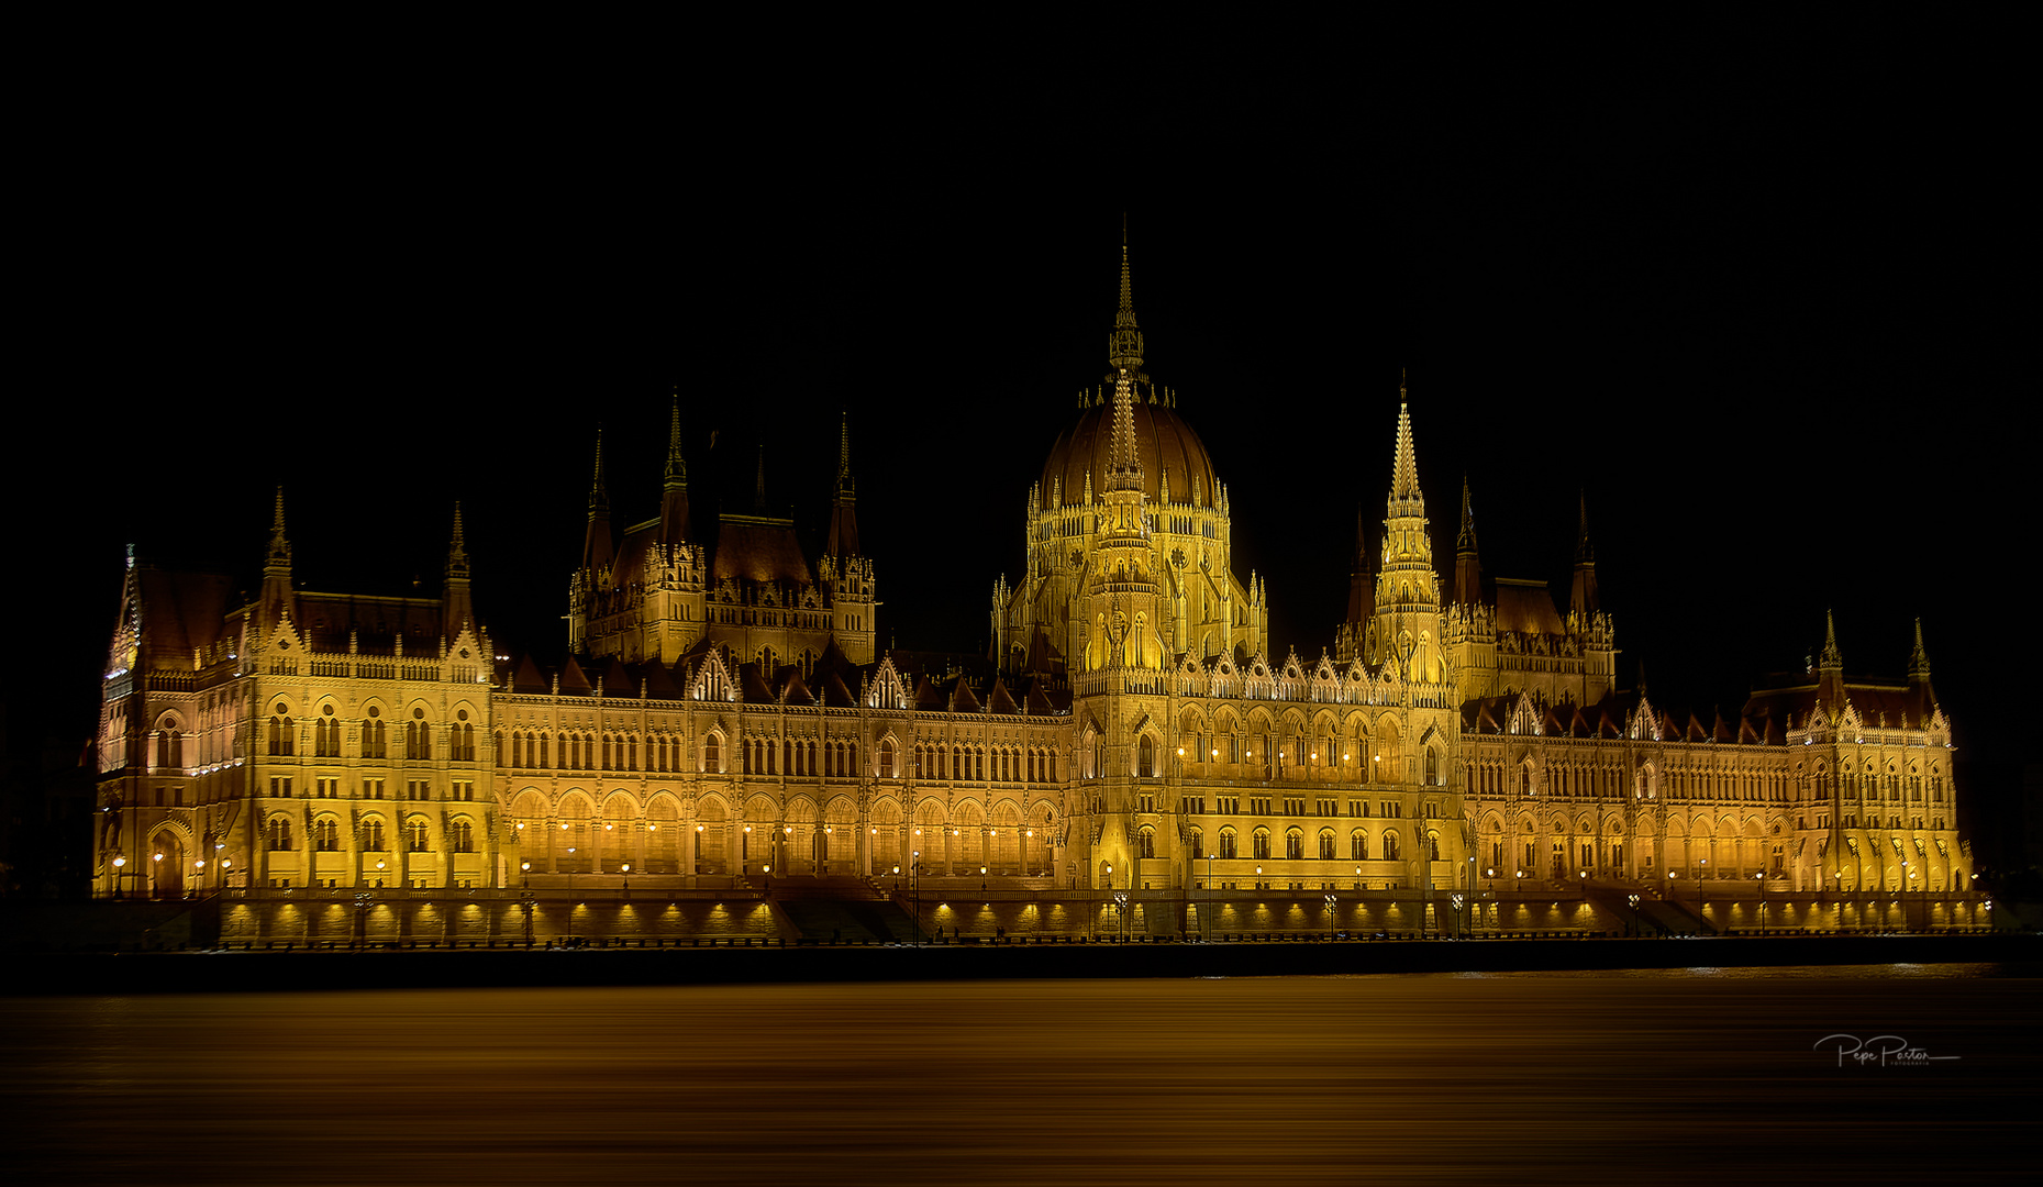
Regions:
M 613 521 L 597 443 L 558 662 L 498 654 L 460 509 L 425 599 L 296 588 L 282 490 L 253 599 L 131 550 L 98 893 L 374 893 L 452 919 L 535 887 L 891 895 L 905 870 L 1097 901 L 1600 887 L 1959 911 L 1969 852 L 1920 625 L 1892 682 L 1847 680 L 1826 631 L 1735 719 L 1655 705 L 1620 689 L 1587 515 L 1563 597 L 1483 572 L 1467 486 L 1436 556 L 1399 392 L 1344 621 L 1318 656 L 1279 656 L 1222 470 L 1144 370 L 1126 247 L 1105 362 L 1044 425 L 1028 566 L 993 582 L 989 639 L 960 639 L 977 662 L 878 646 L 887 558 L 860 548 L 848 429 L 805 548 L 764 496 L 691 509 L 682 398 L 656 515 Z

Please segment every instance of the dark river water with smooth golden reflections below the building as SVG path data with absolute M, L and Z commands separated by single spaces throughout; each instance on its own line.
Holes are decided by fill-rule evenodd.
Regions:
M 2039 985 L 1922 964 L 12 999 L 0 1181 L 2012 1183 L 2037 1167 Z

